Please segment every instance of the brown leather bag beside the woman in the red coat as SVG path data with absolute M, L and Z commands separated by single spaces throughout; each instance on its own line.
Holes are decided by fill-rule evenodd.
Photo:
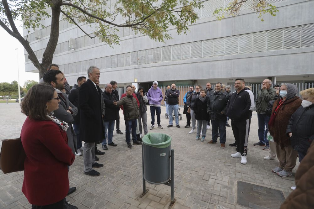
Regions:
M 2 140 L 0 169 L 4 174 L 24 170 L 25 158 L 21 138 Z

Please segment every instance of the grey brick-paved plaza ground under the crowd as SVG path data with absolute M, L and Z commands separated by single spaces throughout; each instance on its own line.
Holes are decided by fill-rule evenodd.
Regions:
M 220 144 L 209 145 L 211 129 L 205 142 L 196 141 L 196 134 L 189 134 L 190 128 L 184 128 L 186 117 L 180 121 L 181 128 L 167 128 L 165 107 L 161 107 L 161 125 L 163 129 L 154 128 L 156 133 L 171 136 L 171 148 L 175 150 L 175 193 L 174 209 L 203 209 L 224 206 L 226 208 L 245 208 L 237 204 L 237 181 L 278 189 L 287 197 L 294 185 L 293 175 L 282 178 L 271 172 L 278 160 L 264 160 L 268 151 L 254 147 L 258 141 L 257 113 L 253 112 L 250 137 L 248 142 L 247 164 L 242 165 L 239 158 L 232 158 L 235 148 L 228 146 L 234 142 L 231 128 L 227 129 L 226 148 Z M 181 108 L 183 112 L 183 108 Z M 148 126 L 150 127 L 150 114 Z M 121 130 L 124 133 L 122 111 L 120 111 Z M 0 139 L 18 138 L 25 115 L 20 112 L 17 103 L 0 104 Z M 157 124 L 155 124 L 157 125 Z M 70 186 L 77 190 L 67 196 L 67 200 L 79 209 L 84 208 L 167 208 L 170 202 L 170 187 L 146 183 L 149 192 L 142 193 L 142 147 L 133 145 L 128 149 L 125 135 L 114 132 L 113 141 L 117 147 L 109 146 L 105 155 L 98 155 L 99 163 L 104 167 L 96 168 L 98 177 L 84 175 L 83 156 L 76 157 L 69 170 Z M 0 144 L 1 146 L 1 144 Z M 101 147 L 98 145 L 100 150 Z M 0 208 L 31 208 L 21 192 L 24 172 L 3 174 L 0 171 Z M 49 187 L 47 188 L 49 190 Z

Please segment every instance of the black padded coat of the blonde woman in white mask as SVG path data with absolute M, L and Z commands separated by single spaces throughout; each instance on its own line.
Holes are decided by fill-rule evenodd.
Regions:
M 306 154 L 314 139 L 314 104 L 300 106 L 291 116 L 286 134 L 292 132 L 290 142 L 294 150 Z

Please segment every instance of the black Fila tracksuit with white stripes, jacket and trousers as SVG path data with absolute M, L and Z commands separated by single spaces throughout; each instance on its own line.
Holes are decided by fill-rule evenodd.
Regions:
M 244 88 L 239 93 L 233 92 L 227 104 L 227 116 L 231 119 L 237 151 L 242 156 L 247 154 L 247 140 L 250 132 L 252 111 L 255 108 L 253 92 Z

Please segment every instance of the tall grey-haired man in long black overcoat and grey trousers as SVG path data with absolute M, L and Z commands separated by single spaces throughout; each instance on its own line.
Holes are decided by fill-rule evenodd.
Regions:
M 101 92 L 99 86 L 100 71 L 95 66 L 87 70 L 88 80 L 78 92 L 80 108 L 80 137 L 84 141 L 84 173 L 99 176 L 93 168 L 103 167 L 95 162 L 95 143 L 99 144 L 104 138 L 104 124 L 102 120 Z

